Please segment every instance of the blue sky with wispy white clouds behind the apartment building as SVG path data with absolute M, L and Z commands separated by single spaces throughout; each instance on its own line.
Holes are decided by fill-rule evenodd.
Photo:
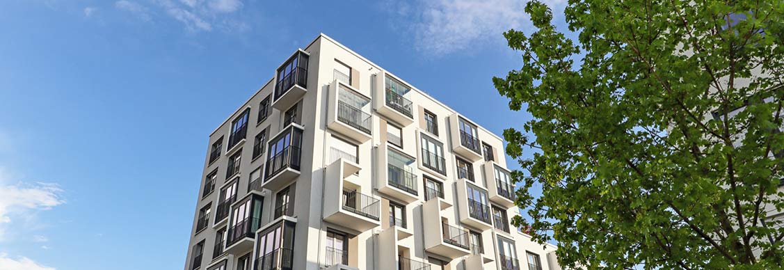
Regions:
M 491 78 L 520 66 L 501 32 L 529 29 L 523 6 L 4 1 L 0 268 L 183 268 L 209 133 L 319 32 L 494 133 L 521 128 Z

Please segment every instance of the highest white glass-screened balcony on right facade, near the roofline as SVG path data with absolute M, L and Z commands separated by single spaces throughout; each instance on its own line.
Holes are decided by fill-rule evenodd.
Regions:
M 405 86 L 385 72 L 379 72 L 376 74 L 376 97 L 378 98 L 373 100 L 373 108 L 394 122 L 408 126 L 414 122 L 414 105 L 411 100 L 405 97 L 406 93 L 410 91 L 411 87 Z

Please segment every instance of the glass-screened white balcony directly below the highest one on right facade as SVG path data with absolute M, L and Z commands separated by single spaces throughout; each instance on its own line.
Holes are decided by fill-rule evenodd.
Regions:
M 418 177 L 412 173 L 412 169 L 403 168 L 411 168 L 408 164 L 397 164 L 401 162 L 401 159 L 405 159 L 406 161 L 403 163 L 410 162 L 413 165 L 414 159 L 401 152 L 391 150 L 386 143 L 382 143 L 376 149 L 378 157 L 376 166 L 379 168 L 376 170 L 376 186 L 379 188 L 379 192 L 405 203 L 412 203 L 419 199 Z

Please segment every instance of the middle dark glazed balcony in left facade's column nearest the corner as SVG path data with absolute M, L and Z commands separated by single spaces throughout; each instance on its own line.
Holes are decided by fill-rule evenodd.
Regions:
M 262 188 L 278 190 L 299 177 L 302 133 L 303 127 L 292 123 L 270 140 Z

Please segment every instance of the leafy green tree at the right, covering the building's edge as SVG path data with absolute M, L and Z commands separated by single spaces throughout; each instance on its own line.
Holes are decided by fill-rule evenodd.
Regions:
M 571 0 L 575 40 L 525 12 L 522 67 L 493 78 L 533 116 L 503 134 L 517 226 L 568 268 L 784 268 L 784 2 Z

